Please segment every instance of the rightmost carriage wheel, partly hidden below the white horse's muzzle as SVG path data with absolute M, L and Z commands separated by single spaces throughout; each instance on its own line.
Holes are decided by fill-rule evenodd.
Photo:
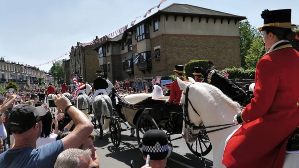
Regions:
M 197 157 L 203 157 L 208 155 L 212 150 L 212 144 L 210 143 L 209 137 L 207 134 L 202 134 L 197 137 L 196 142 L 187 143 L 189 150 Z

